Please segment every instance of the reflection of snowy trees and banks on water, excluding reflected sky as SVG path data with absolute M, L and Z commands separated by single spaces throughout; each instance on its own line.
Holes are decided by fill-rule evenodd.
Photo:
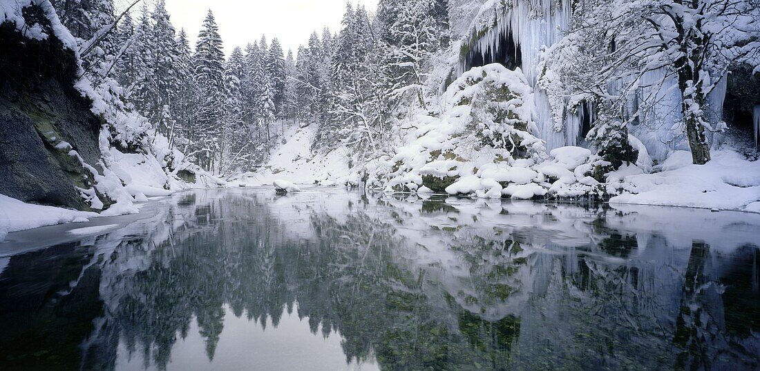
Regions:
M 119 341 L 163 369 L 194 320 L 213 359 L 225 306 L 263 327 L 277 326 L 296 301 L 315 335 L 340 332 L 348 360 L 376 358 L 385 369 L 757 366 L 754 247 L 726 256 L 658 236 L 644 242 L 610 228 L 619 216 L 605 209 L 542 206 L 526 216 L 498 204 L 478 213 L 446 200 L 416 209 L 389 197 L 341 200 L 346 209 L 325 212 L 298 196 L 188 193 L 147 233 L 103 239 L 116 241 L 112 253 L 66 250 L 71 272 L 44 278 L 59 282 L 49 290 L 81 272 L 87 279 L 53 295 L 46 306 L 55 310 L 40 318 L 102 308 L 80 311 L 87 325 L 68 340 L 85 349 L 76 362 L 93 369 L 114 366 Z M 531 223 L 541 221 L 585 228 L 573 236 L 587 241 L 560 246 L 535 233 Z M 293 231 L 305 226 L 308 234 Z M 658 249 L 670 258 L 646 255 Z M 435 261 L 437 253 L 454 261 Z M 6 280 L 33 281 L 18 267 L 42 259 L 14 257 L 0 278 L 0 308 L 3 295 L 18 296 Z

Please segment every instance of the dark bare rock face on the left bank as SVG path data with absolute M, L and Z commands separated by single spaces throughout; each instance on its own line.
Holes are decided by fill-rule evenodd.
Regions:
M 55 37 L 27 39 L 8 23 L 0 25 L 0 50 L 13 51 L 0 52 L 0 193 L 90 209 L 77 188 L 93 188 L 93 174 L 71 150 L 97 164 L 102 121 L 74 89 L 74 53 Z

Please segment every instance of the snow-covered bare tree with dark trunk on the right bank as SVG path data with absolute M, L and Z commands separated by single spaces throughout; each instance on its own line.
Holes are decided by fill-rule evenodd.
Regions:
M 565 93 L 603 100 L 625 100 L 644 85 L 667 89 L 674 81 L 692 160 L 704 164 L 708 133 L 724 127 L 708 118 L 708 95 L 734 62 L 758 65 L 758 9 L 755 0 L 591 0 L 547 65 L 559 72 Z M 644 83 L 654 72 L 659 80 Z

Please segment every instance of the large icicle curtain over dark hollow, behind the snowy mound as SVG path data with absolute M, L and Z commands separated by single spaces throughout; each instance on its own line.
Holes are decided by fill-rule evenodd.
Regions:
M 584 121 L 593 115 L 588 105 L 569 110 L 567 99 L 559 104 L 552 102 L 546 91 L 551 89 L 551 83 L 539 83 L 546 74 L 546 51 L 562 39 L 562 30 L 572 17 L 571 9 L 568 0 L 483 2 L 464 36 L 467 41 L 461 47 L 457 67 L 457 74 L 488 63 L 519 67 L 535 90 L 533 134 L 546 141 L 546 149 L 580 144 Z

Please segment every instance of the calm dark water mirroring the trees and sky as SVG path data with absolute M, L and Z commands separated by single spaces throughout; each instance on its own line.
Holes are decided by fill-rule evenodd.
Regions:
M 0 369 L 760 368 L 760 215 L 335 189 L 150 209 L 0 245 Z

